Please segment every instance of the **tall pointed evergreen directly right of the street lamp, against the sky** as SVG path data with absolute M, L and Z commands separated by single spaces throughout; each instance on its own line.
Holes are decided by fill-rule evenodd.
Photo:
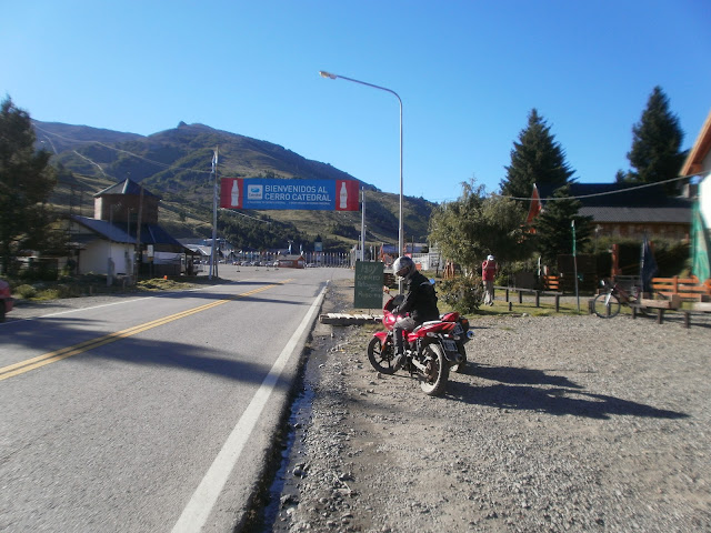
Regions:
M 550 127 L 535 109 L 529 113 L 528 127 L 519 134 L 519 141 L 513 143 L 511 164 L 505 169 L 501 193 L 515 198 L 530 198 L 533 183 L 562 187 L 574 173 Z

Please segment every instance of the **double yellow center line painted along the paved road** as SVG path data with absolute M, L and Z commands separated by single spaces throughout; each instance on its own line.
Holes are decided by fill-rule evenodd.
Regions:
M 42 355 L 38 355 L 36 358 L 31 358 L 24 361 L 20 361 L 19 363 L 10 364 L 8 366 L 0 368 L 0 381 L 7 380 L 8 378 L 12 378 L 14 375 L 23 374 L 24 372 L 29 372 L 30 370 L 39 369 L 40 366 L 44 366 L 46 364 L 54 363 L 57 361 L 61 361 L 62 359 L 71 358 L 72 355 L 77 355 L 79 353 L 87 352 L 94 348 L 103 346 L 104 344 L 109 344 L 111 342 L 116 342 L 120 339 L 126 339 L 131 335 L 136 335 L 137 333 L 141 333 L 143 331 L 150 330 L 152 328 L 158 328 L 159 325 L 167 324 L 174 320 L 184 319 L 186 316 L 190 316 L 191 314 L 200 313 L 202 311 L 207 311 L 212 308 L 217 308 L 218 305 L 222 305 L 223 303 L 232 302 L 240 298 L 250 296 L 252 294 L 257 294 L 258 292 L 266 291 L 268 289 L 272 289 L 274 286 L 279 286 L 283 283 L 290 282 L 291 279 L 284 280 L 281 283 L 273 283 L 271 285 L 260 286 L 259 289 L 253 289 L 248 292 L 243 292 L 241 294 L 237 294 L 232 298 L 228 298 L 224 300 L 217 300 L 214 302 L 206 303 L 204 305 L 199 305 L 193 309 L 189 309 L 187 311 L 181 311 L 180 313 L 171 314 L 169 316 L 163 316 L 161 319 L 153 320 L 151 322 L 146 322 L 144 324 L 134 325 L 133 328 L 128 328 L 126 330 L 116 331 L 113 333 L 109 333 L 107 335 L 99 336 L 97 339 L 90 339 L 84 342 L 80 342 L 79 344 L 74 344 L 72 346 L 62 348 L 61 350 L 56 350 L 53 352 L 48 352 Z

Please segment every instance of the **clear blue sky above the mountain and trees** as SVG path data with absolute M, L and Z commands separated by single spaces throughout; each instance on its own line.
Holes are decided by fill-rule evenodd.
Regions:
M 654 86 L 690 148 L 711 109 L 711 2 L 2 0 L 0 95 L 141 134 L 200 122 L 441 202 L 498 191 L 532 108 L 582 182 L 628 170 Z M 209 161 L 206 163 L 209 165 Z M 121 178 L 121 177 L 119 177 Z

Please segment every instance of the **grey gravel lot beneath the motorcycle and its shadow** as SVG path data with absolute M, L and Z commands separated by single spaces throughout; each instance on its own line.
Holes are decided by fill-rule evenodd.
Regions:
M 317 328 L 271 531 L 711 531 L 709 318 L 472 319 L 442 398 Z

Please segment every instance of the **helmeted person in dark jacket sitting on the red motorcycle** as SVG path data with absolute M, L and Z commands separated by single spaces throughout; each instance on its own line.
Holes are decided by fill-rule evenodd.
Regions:
M 430 320 L 439 320 L 440 312 L 437 309 L 437 294 L 434 286 L 430 281 L 418 272 L 414 262 L 407 255 L 395 259 L 392 264 L 392 271 L 398 278 L 404 281 L 404 300 L 400 305 L 392 310 L 393 314 L 402 315 L 410 313 L 409 316 L 402 316 L 395 322 L 392 333 L 395 343 L 395 366 L 400 366 L 403 362 L 404 352 L 404 331 L 412 331 L 418 325 Z

